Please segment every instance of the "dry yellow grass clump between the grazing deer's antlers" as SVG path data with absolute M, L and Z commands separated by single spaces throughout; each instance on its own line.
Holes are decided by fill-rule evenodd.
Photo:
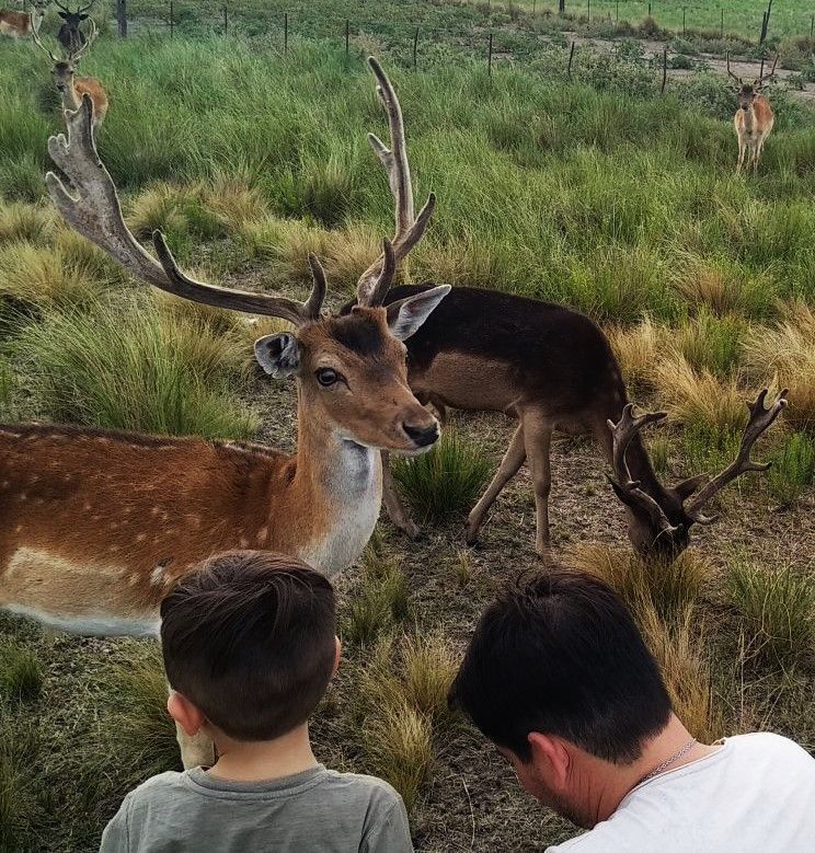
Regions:
M 659 397 L 674 420 L 730 431 L 747 423 L 745 397 L 735 378 L 719 379 L 710 370 L 695 370 L 680 354 L 661 360 L 655 377 Z

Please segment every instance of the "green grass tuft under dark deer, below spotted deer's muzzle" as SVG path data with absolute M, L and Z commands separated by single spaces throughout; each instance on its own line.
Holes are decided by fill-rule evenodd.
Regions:
M 468 511 L 492 472 L 480 448 L 450 427 L 431 451 L 420 457 L 395 457 L 391 466 L 416 514 L 433 519 Z

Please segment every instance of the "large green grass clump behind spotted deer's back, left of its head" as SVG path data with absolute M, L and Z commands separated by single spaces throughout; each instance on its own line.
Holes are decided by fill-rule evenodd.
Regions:
M 22 328 L 14 350 L 56 422 L 205 438 L 256 427 L 236 393 L 246 377 L 242 343 L 146 299 L 53 311 Z

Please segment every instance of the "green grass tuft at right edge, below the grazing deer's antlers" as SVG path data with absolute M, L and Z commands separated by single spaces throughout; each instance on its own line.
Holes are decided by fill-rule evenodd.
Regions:
M 748 650 L 785 667 L 815 650 L 815 587 L 789 565 L 770 568 L 736 555 L 728 565 L 733 603 Z

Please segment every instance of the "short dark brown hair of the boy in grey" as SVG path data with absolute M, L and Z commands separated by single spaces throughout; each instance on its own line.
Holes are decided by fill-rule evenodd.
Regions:
M 236 740 L 274 740 L 309 718 L 335 635 L 329 580 L 265 551 L 210 557 L 161 602 L 170 685 Z

